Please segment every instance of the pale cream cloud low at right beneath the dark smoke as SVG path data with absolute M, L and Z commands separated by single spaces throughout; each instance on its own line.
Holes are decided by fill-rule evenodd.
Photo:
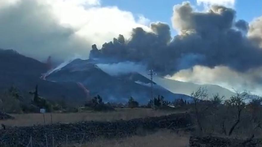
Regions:
M 262 94 L 262 67 L 250 69 L 247 72 L 236 72 L 229 67 L 217 66 L 214 68 L 194 66 L 192 69 L 183 69 L 168 77 L 183 82 L 197 84 L 215 84 L 237 91 L 251 91 L 254 94 Z

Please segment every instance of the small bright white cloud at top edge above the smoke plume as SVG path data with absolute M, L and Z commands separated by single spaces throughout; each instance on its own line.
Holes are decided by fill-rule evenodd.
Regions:
M 224 5 L 227 7 L 234 7 L 236 0 L 197 0 L 197 4 L 204 4 L 210 6 L 213 4 Z

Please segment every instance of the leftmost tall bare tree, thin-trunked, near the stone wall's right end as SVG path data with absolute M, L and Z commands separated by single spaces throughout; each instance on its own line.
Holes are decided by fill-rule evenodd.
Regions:
M 203 132 L 203 127 L 200 121 L 200 108 L 199 108 L 199 103 L 207 100 L 208 94 L 207 94 L 207 88 L 206 87 L 199 87 L 197 88 L 196 91 L 193 91 L 191 93 L 191 98 L 194 102 L 194 109 L 195 109 L 195 115 L 197 119 L 197 125 L 199 127 L 200 132 Z

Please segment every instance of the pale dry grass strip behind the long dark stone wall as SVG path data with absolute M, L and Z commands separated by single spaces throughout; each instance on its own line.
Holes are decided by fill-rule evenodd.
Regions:
M 133 118 L 144 118 L 150 116 L 168 115 L 171 111 L 152 110 L 150 108 L 118 108 L 112 112 L 81 112 L 81 113 L 52 113 L 53 123 L 75 123 L 79 121 L 114 121 L 129 120 Z M 14 116 L 14 120 L 0 121 L 0 124 L 7 126 L 31 126 L 44 124 L 43 114 L 10 114 Z M 45 113 L 46 124 L 51 124 L 51 113 Z

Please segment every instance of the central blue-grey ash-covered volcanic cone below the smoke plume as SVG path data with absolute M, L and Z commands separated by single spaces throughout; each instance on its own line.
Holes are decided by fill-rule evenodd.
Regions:
M 131 74 L 132 75 L 132 74 Z M 140 103 L 147 103 L 151 97 L 150 80 L 136 73 L 138 78 L 130 79 L 130 75 L 111 76 L 96 66 L 93 60 L 75 59 L 65 67 L 52 72 L 47 80 L 57 82 L 79 82 L 89 91 L 91 96 L 101 95 L 104 101 L 127 102 L 129 97 L 134 97 Z M 154 95 L 163 95 L 166 99 L 190 97 L 184 94 L 174 94 L 161 86 L 154 86 Z

